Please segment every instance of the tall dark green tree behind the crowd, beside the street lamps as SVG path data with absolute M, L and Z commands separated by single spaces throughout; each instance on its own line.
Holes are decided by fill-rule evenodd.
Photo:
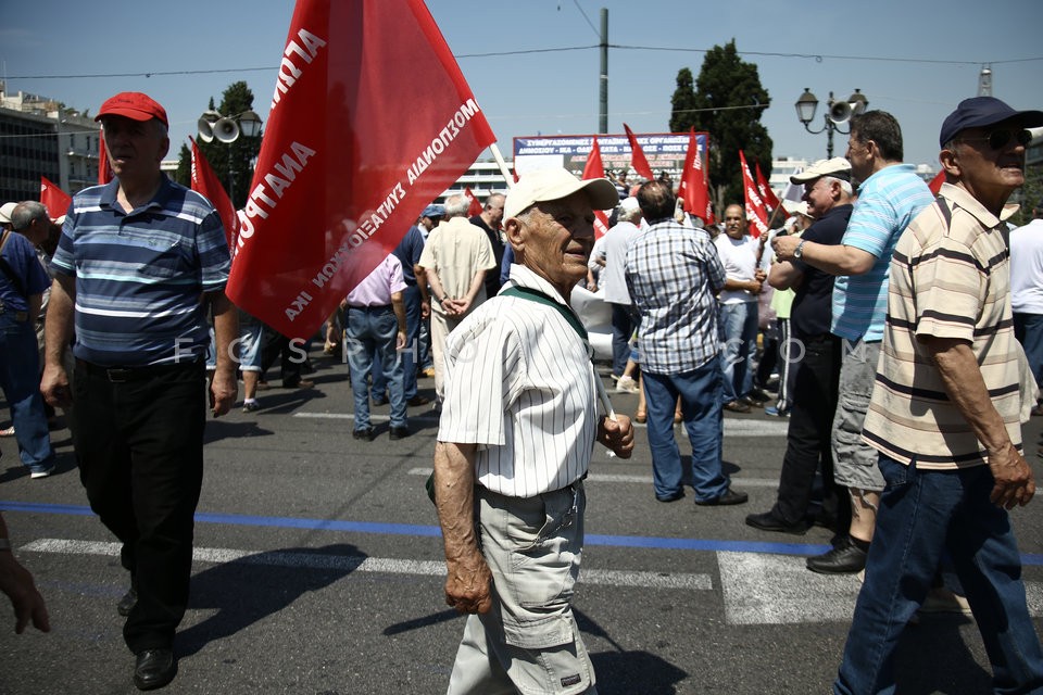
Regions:
M 739 150 L 745 152 L 752 167 L 771 176 L 771 138 L 761 123 L 764 110 L 771 103 L 761 85 L 757 66 L 739 56 L 736 40 L 715 46 L 706 52 L 695 80 L 695 93 L 689 101 L 691 71 L 681 68 L 674 92 L 670 129 L 683 132 L 691 126 L 709 134 L 711 199 L 718 216 L 726 205 L 742 204 L 742 173 Z

